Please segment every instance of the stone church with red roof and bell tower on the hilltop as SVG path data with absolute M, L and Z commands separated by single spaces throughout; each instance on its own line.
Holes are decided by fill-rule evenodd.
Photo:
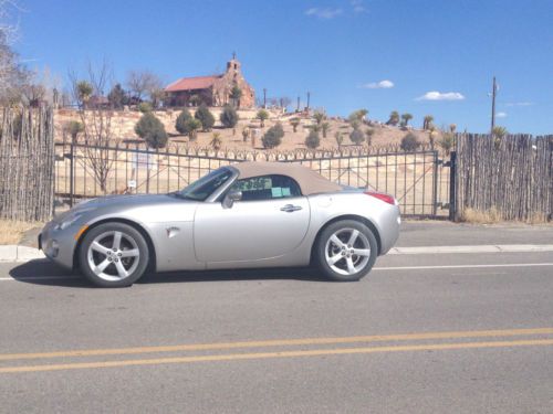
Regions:
M 223 106 L 236 104 L 240 108 L 255 106 L 255 93 L 246 82 L 236 54 L 227 62 L 227 71 L 220 75 L 182 77 L 165 88 L 169 106 Z M 238 87 L 240 98 L 233 99 L 232 89 Z

